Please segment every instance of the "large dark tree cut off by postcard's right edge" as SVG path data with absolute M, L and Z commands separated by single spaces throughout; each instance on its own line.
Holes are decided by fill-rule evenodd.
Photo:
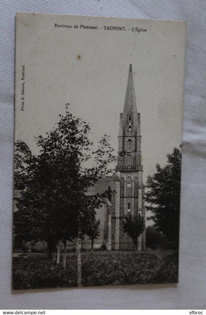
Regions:
M 177 247 L 180 224 L 180 149 L 175 147 L 167 159 L 168 164 L 164 168 L 157 164 L 157 172 L 148 176 L 146 187 L 149 190 L 145 200 L 150 204 L 146 206 L 147 210 L 153 213 L 148 219 L 152 219 L 154 227 Z

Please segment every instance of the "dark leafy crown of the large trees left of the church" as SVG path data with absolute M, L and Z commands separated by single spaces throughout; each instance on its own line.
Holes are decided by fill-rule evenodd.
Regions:
M 15 189 L 18 191 L 14 213 L 14 233 L 25 241 L 47 241 L 50 251 L 61 240 L 83 238 L 94 221 L 107 191 L 87 196 L 89 187 L 110 170 L 115 160 L 109 137 L 104 135 L 96 151 L 89 140 L 89 125 L 66 114 L 45 137 L 35 138 L 39 154 L 17 141 L 15 149 Z M 94 166 L 86 167 L 93 159 Z

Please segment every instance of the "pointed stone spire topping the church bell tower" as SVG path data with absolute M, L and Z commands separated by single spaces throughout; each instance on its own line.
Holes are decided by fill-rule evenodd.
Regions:
M 130 64 L 125 104 L 122 115 L 123 134 L 128 136 L 135 135 L 137 132 L 137 126 L 138 126 L 137 107 L 134 93 L 132 65 Z

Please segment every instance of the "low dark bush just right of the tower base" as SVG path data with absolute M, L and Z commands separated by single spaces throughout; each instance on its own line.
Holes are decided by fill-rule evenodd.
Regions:
M 146 247 L 151 249 L 162 248 L 164 237 L 161 232 L 158 232 L 154 226 L 149 226 L 146 229 Z

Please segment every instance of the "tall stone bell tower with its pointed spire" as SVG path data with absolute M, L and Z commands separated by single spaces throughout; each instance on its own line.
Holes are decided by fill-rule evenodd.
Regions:
M 140 114 L 137 113 L 132 66 L 129 77 L 123 113 L 120 114 L 119 149 L 116 174 L 120 178 L 120 220 L 130 214 L 145 217 L 141 165 Z M 131 239 L 121 232 L 119 249 L 132 248 Z M 145 231 L 138 237 L 138 251 L 145 250 Z

